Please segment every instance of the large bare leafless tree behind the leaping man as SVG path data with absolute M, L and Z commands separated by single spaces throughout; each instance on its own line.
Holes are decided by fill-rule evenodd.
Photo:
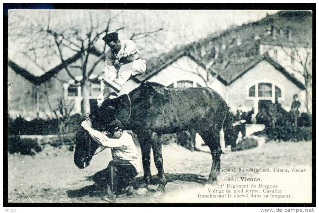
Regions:
M 125 14 L 124 14 L 125 13 Z M 26 46 L 20 53 L 24 58 L 33 63 L 35 67 L 46 72 L 47 63 L 54 58 L 59 61 L 60 65 L 66 71 L 70 79 L 73 79 L 75 85 L 81 86 L 83 97 L 83 113 L 90 112 L 89 95 L 90 95 L 90 76 L 95 71 L 98 64 L 105 59 L 107 46 L 101 41 L 101 37 L 108 32 L 130 31 L 133 40 L 150 40 L 155 34 L 162 30 L 162 27 L 154 26 L 142 28 L 141 24 L 132 26 L 126 16 L 125 11 L 81 11 L 74 12 L 72 15 L 79 20 L 70 18 L 63 23 L 58 21 L 57 16 L 67 16 L 61 11 L 45 11 L 43 22 L 26 21 L 26 32 L 17 30 L 15 27 L 11 38 L 21 38 L 22 43 Z M 125 18 L 123 18 L 125 16 Z M 69 16 L 70 17 L 70 16 Z M 24 17 L 11 18 L 13 24 L 19 25 L 19 20 Z M 30 34 L 32 35 L 30 37 Z M 21 40 L 21 39 L 20 39 Z M 70 58 L 70 56 L 72 56 Z M 71 60 L 70 60 L 71 59 Z M 76 59 L 77 61 L 74 61 Z M 13 63 L 11 63 L 13 64 Z M 15 65 L 15 64 L 13 64 Z M 20 73 L 25 70 L 19 69 Z M 56 69 L 55 69 L 56 71 Z M 103 70 L 101 70 L 102 72 Z M 51 72 L 52 77 L 57 72 Z M 77 76 L 81 73 L 81 78 Z M 39 77 L 26 75 L 32 80 L 42 80 Z

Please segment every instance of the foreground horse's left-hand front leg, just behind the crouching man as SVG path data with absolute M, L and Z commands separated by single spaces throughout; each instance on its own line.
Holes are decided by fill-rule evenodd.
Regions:
M 144 171 L 144 183 L 140 186 L 146 188 L 151 183 L 151 143 L 148 137 L 145 135 L 138 135 L 138 141 L 140 143 L 142 152 L 142 164 Z

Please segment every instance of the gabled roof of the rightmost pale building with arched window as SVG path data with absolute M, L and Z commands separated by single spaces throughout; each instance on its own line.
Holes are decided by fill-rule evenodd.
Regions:
M 246 58 L 240 60 L 235 60 L 227 67 L 221 71 L 217 77 L 225 86 L 232 84 L 234 81 L 239 79 L 243 74 L 248 72 L 250 69 L 254 68 L 261 61 L 266 60 L 272 66 L 274 66 L 279 72 L 281 72 L 288 80 L 293 82 L 300 89 L 304 90 L 305 86 L 296 79 L 291 73 L 287 72 L 284 67 L 274 61 L 267 53 L 263 55 L 258 55 L 254 58 Z

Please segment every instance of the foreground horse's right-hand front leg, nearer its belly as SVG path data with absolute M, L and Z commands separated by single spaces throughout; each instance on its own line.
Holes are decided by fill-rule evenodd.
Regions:
M 165 185 L 167 183 L 167 180 L 163 168 L 162 141 L 160 140 L 158 134 L 154 132 L 151 134 L 151 143 L 154 155 L 154 162 L 158 171 L 159 186 L 157 188 L 157 191 L 165 192 Z

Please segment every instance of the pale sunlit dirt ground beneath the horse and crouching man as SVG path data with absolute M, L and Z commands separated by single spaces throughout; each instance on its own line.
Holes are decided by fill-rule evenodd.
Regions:
M 140 155 L 140 148 L 137 149 Z M 91 177 L 106 168 L 111 160 L 110 157 L 110 150 L 106 149 L 93 157 L 89 167 L 81 170 L 74 165 L 73 152 L 67 147 L 47 146 L 35 156 L 10 154 L 8 201 L 9 203 L 106 203 L 101 200 L 101 190 L 93 185 Z M 163 146 L 163 160 L 168 180 L 165 194 L 155 192 L 156 185 L 150 185 L 146 194 L 134 193 L 131 196 L 118 198 L 116 202 L 174 202 L 171 200 L 174 193 L 204 186 L 212 161 L 210 153 L 191 152 L 176 144 Z M 306 166 L 311 170 L 311 142 L 268 142 L 257 148 L 238 152 L 231 152 L 228 147 L 226 154 L 221 156 L 222 168 L 290 166 Z M 152 175 L 157 174 L 153 160 L 151 172 Z M 231 175 L 236 174 L 221 173 L 219 183 Z M 137 182 L 141 181 L 142 176 L 143 172 L 137 176 Z

